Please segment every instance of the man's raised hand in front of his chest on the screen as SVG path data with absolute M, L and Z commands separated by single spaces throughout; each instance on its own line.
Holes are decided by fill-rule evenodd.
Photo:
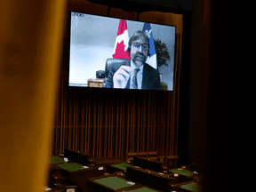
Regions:
M 129 66 L 121 66 L 113 76 L 114 88 L 125 88 L 131 76 L 131 68 Z

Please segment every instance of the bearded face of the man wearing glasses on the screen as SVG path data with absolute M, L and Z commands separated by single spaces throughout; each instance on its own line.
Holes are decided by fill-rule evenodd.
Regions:
M 140 68 L 148 58 L 148 41 L 144 36 L 140 36 L 136 41 L 132 42 L 131 59 L 137 68 Z

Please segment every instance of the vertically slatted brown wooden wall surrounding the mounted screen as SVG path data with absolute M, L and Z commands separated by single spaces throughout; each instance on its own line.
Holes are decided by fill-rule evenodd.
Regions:
M 136 92 L 68 87 L 69 11 L 106 15 L 108 7 L 68 1 L 57 87 L 59 96 L 52 127 L 52 155 L 72 148 L 92 154 L 98 163 L 147 156 L 168 166 L 177 165 L 182 16 L 161 12 L 140 14 L 140 21 L 170 24 L 170 20 L 175 20 L 179 33 L 176 34 L 173 92 Z M 120 9 L 111 10 L 111 16 L 137 19 L 136 12 Z

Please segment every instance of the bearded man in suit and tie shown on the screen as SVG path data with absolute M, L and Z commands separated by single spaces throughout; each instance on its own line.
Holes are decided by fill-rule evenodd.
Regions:
M 146 63 L 149 54 L 148 35 L 139 30 L 132 35 L 128 44 L 131 60 L 111 68 L 103 87 L 160 90 L 158 70 Z

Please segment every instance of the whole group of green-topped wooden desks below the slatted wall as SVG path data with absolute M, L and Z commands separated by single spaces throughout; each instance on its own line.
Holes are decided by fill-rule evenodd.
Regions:
M 140 164 L 143 165 L 143 161 Z M 52 156 L 49 185 L 55 192 L 201 191 L 202 177 L 187 167 L 168 169 L 154 164 L 155 170 L 134 165 L 134 162 L 85 165 L 72 160 L 65 162 L 64 156 Z

